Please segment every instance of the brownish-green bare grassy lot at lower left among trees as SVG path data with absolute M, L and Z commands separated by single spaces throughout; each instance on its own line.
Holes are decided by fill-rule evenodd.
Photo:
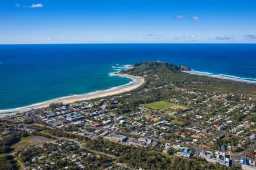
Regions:
M 18 143 L 15 143 L 13 146 L 11 146 L 11 148 L 14 148 L 15 150 L 25 149 L 30 146 L 41 145 L 49 141 L 52 141 L 52 139 L 31 135 L 31 136 L 22 138 Z

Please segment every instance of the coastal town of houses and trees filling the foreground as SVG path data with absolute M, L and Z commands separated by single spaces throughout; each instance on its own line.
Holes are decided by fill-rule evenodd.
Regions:
M 7 141 L 1 154 L 13 156 L 22 169 L 149 169 L 135 167 L 123 154 L 123 148 L 140 148 L 168 159 L 256 169 L 255 104 L 253 96 L 172 81 L 56 102 L 1 117 L 0 139 Z

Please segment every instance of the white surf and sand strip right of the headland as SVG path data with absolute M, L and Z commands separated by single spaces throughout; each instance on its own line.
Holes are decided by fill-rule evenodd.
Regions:
M 244 80 L 244 79 L 239 79 L 239 78 L 232 78 L 228 76 L 223 76 L 223 75 L 214 75 L 211 73 L 204 73 L 200 71 L 182 71 L 183 73 L 188 73 L 188 74 L 195 74 L 195 75 L 201 75 L 201 76 L 208 76 L 211 78 L 218 78 L 218 79 L 225 79 L 225 80 L 233 80 L 236 82 L 243 82 L 243 83 L 253 83 L 256 84 L 256 82 L 251 81 L 251 80 Z

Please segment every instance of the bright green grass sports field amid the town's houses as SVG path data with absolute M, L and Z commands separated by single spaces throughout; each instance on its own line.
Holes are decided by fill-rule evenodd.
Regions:
M 176 108 L 176 109 L 183 109 L 183 110 L 188 109 L 187 107 L 184 107 L 182 105 L 169 103 L 167 101 L 156 101 L 154 103 L 144 104 L 144 107 L 155 109 L 155 110 L 162 110 L 167 108 Z

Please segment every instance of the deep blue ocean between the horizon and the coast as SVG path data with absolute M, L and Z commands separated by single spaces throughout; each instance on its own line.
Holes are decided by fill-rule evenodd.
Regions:
M 109 73 L 143 61 L 256 81 L 256 44 L 0 45 L 0 110 L 121 86 Z

